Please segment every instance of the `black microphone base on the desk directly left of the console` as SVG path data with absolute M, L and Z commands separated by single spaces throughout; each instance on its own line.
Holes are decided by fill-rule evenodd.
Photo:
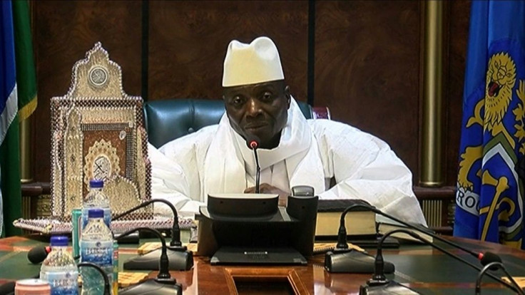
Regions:
M 193 267 L 193 252 L 190 251 L 174 251 L 167 249 L 169 270 L 186 271 Z M 158 262 L 160 262 L 160 249 L 153 250 L 144 255 L 133 257 L 124 262 L 124 269 L 126 270 L 158 270 Z

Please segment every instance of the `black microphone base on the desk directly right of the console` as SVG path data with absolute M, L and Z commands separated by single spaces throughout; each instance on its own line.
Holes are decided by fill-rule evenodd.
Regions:
M 373 256 L 356 250 L 342 253 L 327 252 L 325 256 L 325 269 L 332 273 L 373 274 L 374 267 Z M 384 273 L 392 274 L 394 270 L 394 264 L 384 262 Z

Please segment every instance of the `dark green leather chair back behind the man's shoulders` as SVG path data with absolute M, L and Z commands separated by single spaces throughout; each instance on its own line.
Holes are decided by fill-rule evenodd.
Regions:
M 301 101 L 297 103 L 307 119 L 330 119 L 327 108 L 312 108 Z M 144 123 L 148 130 L 148 140 L 153 146 L 160 148 L 175 138 L 219 123 L 224 112 L 223 100 L 176 98 L 145 102 Z

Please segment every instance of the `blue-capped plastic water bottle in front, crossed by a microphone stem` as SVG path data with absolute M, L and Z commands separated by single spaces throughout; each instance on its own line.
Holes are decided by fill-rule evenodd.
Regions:
M 109 285 L 113 281 L 113 235 L 103 221 L 102 209 L 89 209 L 88 224 L 80 238 L 81 262 L 91 262 L 101 266 L 108 276 Z M 89 267 L 81 268 L 82 294 L 103 295 L 104 280 L 100 272 Z M 111 294 L 113 291 L 110 290 Z

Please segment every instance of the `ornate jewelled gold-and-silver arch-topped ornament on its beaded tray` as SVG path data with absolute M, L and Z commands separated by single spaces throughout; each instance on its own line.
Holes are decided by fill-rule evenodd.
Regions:
M 51 98 L 51 217 L 14 222 L 49 234 L 71 232 L 71 210 L 81 207 L 89 180 L 105 182 L 112 214 L 151 199 L 151 163 L 143 100 L 122 89 L 121 67 L 96 43 L 73 66 L 66 95 Z M 115 232 L 171 227 L 150 206 L 112 223 Z

